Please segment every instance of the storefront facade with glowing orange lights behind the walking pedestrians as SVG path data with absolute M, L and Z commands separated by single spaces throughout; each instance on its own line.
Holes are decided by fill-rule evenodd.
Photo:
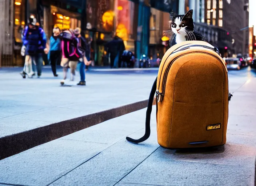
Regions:
M 155 58 L 166 46 L 161 37 L 169 29 L 170 9 L 179 10 L 179 0 L 0 0 L 0 66 L 22 66 L 21 33 L 29 17 L 36 17 L 48 39 L 52 29 L 80 27 L 92 38 L 95 65 L 103 62 L 104 44 L 114 35 L 123 39 L 125 48 Z

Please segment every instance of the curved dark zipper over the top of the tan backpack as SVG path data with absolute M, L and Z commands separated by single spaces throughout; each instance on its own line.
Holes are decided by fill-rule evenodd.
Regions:
M 212 48 L 210 48 L 210 47 L 205 47 L 205 46 L 203 46 L 203 45 L 202 45 L 202 46 L 200 46 L 200 45 L 193 45 L 193 46 L 191 46 L 191 47 L 204 47 L 204 48 L 208 48 L 208 49 L 211 49 L 211 50 L 215 51 L 214 49 L 212 49 Z M 188 48 L 189 48 L 189 47 L 188 47 Z M 188 48 L 185 48 L 185 49 L 188 49 Z M 215 47 L 215 48 L 216 48 L 216 47 Z M 185 50 L 185 49 L 180 49 L 180 50 Z M 180 50 L 178 50 L 178 51 L 180 51 Z M 172 53 L 178 52 L 178 51 L 173 51 Z M 218 51 L 218 50 L 217 50 L 217 51 Z M 171 53 L 171 54 L 172 54 L 172 53 Z M 197 52 L 190 52 L 190 53 L 197 53 Z M 190 54 L 190 53 L 186 53 L 186 54 Z M 208 54 L 208 55 L 210 55 L 210 56 L 212 56 L 212 57 L 215 57 L 215 56 L 213 56 L 213 55 L 211 55 L 211 54 L 209 54 L 209 53 L 206 53 L 206 52 L 200 52 L 200 53 Z M 184 56 L 184 55 L 186 55 L 186 54 L 183 54 L 183 55 L 181 55 L 181 56 Z M 162 84 L 162 92 L 159 92 L 160 82 L 161 82 L 161 79 L 160 79 L 160 81 L 159 81 L 159 87 L 158 87 L 158 90 L 156 91 L 156 100 L 157 100 L 157 102 L 161 102 L 161 101 L 163 100 L 164 93 L 165 93 L 165 84 L 166 84 L 167 75 L 168 75 L 168 73 L 169 73 L 169 70 L 170 70 L 170 68 L 171 68 L 171 66 L 172 66 L 172 64 L 173 64 L 173 62 L 174 62 L 177 58 L 179 58 L 179 57 L 181 57 L 181 56 L 178 56 L 178 57 L 174 58 L 174 59 L 168 64 L 167 69 L 166 69 L 165 72 L 164 72 L 163 84 Z M 219 62 L 221 62 L 222 65 L 224 65 L 223 62 L 219 60 L 219 58 L 217 58 L 217 57 L 215 57 L 215 58 L 216 58 Z M 226 70 L 227 70 L 227 69 L 226 69 Z M 160 78 L 161 78 L 161 77 L 160 77 Z

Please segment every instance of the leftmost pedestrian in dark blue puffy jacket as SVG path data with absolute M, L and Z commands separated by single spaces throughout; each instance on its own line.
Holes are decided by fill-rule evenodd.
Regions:
M 32 69 L 35 72 L 35 65 L 37 69 L 37 77 L 41 76 L 42 65 L 43 65 L 43 56 L 42 53 L 48 53 L 46 48 L 47 38 L 44 30 L 37 25 L 35 18 L 29 19 L 29 25 L 25 27 L 23 32 L 23 45 L 25 46 L 25 55 L 30 56 L 32 60 Z M 26 73 L 21 72 L 21 76 L 24 76 Z

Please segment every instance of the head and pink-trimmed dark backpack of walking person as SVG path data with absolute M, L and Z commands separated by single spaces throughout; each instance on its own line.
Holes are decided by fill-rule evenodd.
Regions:
M 63 57 L 68 58 L 70 61 L 78 61 L 81 53 L 77 47 L 77 38 L 67 30 L 60 33 L 60 39 Z

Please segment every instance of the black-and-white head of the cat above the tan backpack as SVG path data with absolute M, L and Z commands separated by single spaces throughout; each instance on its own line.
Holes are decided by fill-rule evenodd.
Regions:
M 194 30 L 193 10 L 189 10 L 185 15 L 178 15 L 173 10 L 169 13 L 172 19 L 171 29 L 176 35 L 186 35 L 186 30 Z

